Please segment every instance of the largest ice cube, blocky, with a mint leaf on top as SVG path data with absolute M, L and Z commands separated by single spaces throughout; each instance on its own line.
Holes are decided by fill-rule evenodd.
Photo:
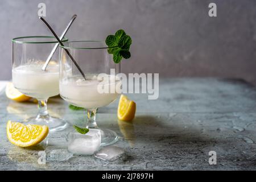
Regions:
M 77 155 L 93 155 L 101 146 L 101 130 L 89 129 L 88 133 L 68 135 L 68 151 Z

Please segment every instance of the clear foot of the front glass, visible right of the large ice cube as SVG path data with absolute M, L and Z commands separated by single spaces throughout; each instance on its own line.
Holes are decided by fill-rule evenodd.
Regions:
M 117 134 L 109 129 L 100 129 L 101 130 L 101 146 L 109 146 L 117 142 Z

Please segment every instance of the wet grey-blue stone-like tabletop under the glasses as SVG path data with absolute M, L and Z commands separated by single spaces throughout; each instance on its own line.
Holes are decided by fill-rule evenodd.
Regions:
M 36 113 L 32 103 L 0 97 L 1 170 L 255 170 L 256 89 L 242 80 L 176 78 L 160 80 L 158 100 L 145 94 L 129 95 L 137 103 L 132 123 L 117 121 L 117 101 L 98 110 L 100 127 L 117 132 L 115 146 L 126 158 L 108 163 L 93 156 L 67 152 L 69 129 L 53 133 L 48 145 L 25 149 L 6 138 L 6 122 Z M 69 123 L 82 125 L 85 113 L 68 109 L 67 103 L 51 98 L 49 111 Z M 209 165 L 208 152 L 216 151 L 217 164 Z M 38 164 L 38 152 L 46 151 L 46 165 Z

